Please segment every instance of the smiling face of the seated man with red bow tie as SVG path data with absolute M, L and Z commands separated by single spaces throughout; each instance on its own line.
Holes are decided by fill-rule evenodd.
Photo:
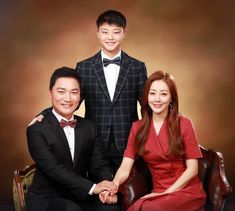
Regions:
M 74 78 L 58 78 L 52 90 L 49 90 L 49 95 L 55 111 L 66 119 L 70 119 L 79 105 L 79 83 Z

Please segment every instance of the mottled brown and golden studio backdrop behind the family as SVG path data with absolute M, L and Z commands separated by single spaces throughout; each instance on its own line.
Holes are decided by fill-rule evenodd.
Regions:
M 127 17 L 123 49 L 145 61 L 148 75 L 174 75 L 180 111 L 193 120 L 200 144 L 223 153 L 235 187 L 234 1 L 0 0 L 1 204 L 12 203 L 13 171 L 32 162 L 25 129 L 50 106 L 52 71 L 100 49 L 95 21 L 107 9 Z

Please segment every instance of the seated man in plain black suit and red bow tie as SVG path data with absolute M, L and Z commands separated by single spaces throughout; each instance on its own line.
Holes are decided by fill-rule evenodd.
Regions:
M 29 152 L 36 163 L 27 210 L 119 210 L 95 196 L 115 187 L 107 181 L 112 176 L 95 124 L 73 114 L 80 102 L 79 84 L 73 69 L 57 69 L 49 86 L 52 110 L 27 128 Z

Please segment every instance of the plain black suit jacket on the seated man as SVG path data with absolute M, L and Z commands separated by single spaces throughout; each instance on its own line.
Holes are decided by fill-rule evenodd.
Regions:
M 51 111 L 42 122 L 27 128 L 28 148 L 36 162 L 30 191 L 52 197 L 72 193 L 84 200 L 94 182 L 111 179 L 94 123 L 75 118 L 74 162 L 65 133 Z

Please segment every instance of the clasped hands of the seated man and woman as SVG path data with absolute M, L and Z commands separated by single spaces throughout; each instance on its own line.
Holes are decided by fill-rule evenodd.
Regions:
M 99 199 L 102 203 L 115 204 L 117 203 L 118 185 L 112 181 L 104 180 L 96 184 L 93 191 L 94 194 L 99 194 Z

